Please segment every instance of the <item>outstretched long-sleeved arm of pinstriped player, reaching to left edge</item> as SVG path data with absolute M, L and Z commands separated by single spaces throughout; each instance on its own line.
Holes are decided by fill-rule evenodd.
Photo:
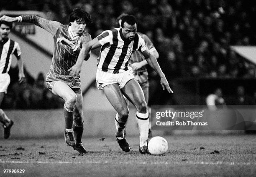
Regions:
M 46 20 L 44 18 L 38 17 L 37 15 L 21 15 L 18 17 L 8 17 L 6 15 L 3 15 L 3 17 L 1 17 L 0 20 L 6 21 L 6 22 L 33 23 L 33 24 L 43 28 L 44 30 L 50 32 L 52 36 L 54 36 L 56 34 L 58 27 L 61 25 L 60 22 Z

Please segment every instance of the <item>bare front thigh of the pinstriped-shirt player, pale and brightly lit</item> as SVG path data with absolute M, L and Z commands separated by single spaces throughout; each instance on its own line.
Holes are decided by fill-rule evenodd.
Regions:
M 77 99 L 74 91 L 66 83 L 61 81 L 57 81 L 53 85 L 53 87 L 51 88 L 51 92 L 54 95 L 58 95 L 59 97 L 63 98 L 65 101 L 72 100 L 74 98 Z

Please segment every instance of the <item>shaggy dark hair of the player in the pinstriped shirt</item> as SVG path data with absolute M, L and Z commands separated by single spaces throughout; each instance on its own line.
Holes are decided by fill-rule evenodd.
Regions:
M 69 22 L 74 22 L 75 20 L 78 20 L 80 18 L 84 19 L 87 25 L 92 23 L 91 15 L 85 10 L 79 8 L 75 8 L 73 12 L 70 14 Z

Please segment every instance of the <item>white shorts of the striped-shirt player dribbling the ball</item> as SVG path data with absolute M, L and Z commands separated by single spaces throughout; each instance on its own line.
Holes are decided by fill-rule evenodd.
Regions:
M 128 67 L 127 71 L 117 74 L 112 72 L 104 72 L 100 69 L 97 69 L 96 72 L 96 82 L 98 89 L 103 89 L 103 87 L 106 85 L 114 83 L 118 83 L 119 87 L 123 88 L 125 84 L 131 79 L 134 79 L 133 69 L 131 67 Z

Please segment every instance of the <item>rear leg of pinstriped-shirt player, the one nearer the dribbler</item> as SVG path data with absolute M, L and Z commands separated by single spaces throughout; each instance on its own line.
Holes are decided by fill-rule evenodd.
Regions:
M 73 147 L 80 154 L 86 154 L 87 150 L 82 145 L 82 135 L 84 131 L 84 113 L 83 113 L 83 96 L 82 93 L 77 94 L 77 103 L 74 108 L 73 131 L 76 145 Z

